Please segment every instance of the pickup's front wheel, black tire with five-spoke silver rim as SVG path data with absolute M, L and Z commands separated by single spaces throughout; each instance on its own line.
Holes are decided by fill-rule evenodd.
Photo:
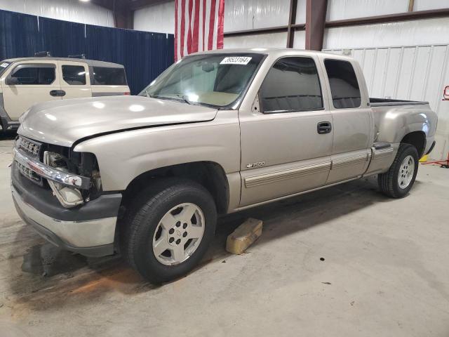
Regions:
M 152 283 L 185 275 L 213 239 L 217 211 L 210 193 L 190 180 L 160 180 L 133 200 L 121 252 Z

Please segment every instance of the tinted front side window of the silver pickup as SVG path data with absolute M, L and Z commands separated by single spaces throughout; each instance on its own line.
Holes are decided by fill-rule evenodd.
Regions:
M 278 60 L 265 77 L 260 93 L 264 112 L 323 109 L 319 76 L 311 58 Z

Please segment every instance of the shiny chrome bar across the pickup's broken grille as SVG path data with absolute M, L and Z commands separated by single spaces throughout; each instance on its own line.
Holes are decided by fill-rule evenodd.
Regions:
M 57 169 L 48 166 L 46 164 L 41 163 L 35 159 L 28 157 L 26 154 L 23 154 L 17 148 L 13 148 L 13 159 L 17 161 L 19 164 L 25 166 L 27 169 L 34 171 L 39 176 L 53 180 L 55 183 L 60 183 L 63 185 L 78 187 L 83 190 L 88 190 L 91 188 L 91 179 L 76 176 L 72 173 L 67 173 L 63 171 L 58 171 Z

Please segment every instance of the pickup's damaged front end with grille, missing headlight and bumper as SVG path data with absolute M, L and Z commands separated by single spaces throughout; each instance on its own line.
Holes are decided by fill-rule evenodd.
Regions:
M 114 253 L 120 192 L 104 192 L 95 154 L 18 136 L 11 193 L 22 220 L 42 237 L 85 256 Z

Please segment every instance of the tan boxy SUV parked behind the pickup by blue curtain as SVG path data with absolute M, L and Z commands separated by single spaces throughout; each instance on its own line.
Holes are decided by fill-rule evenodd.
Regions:
M 18 128 L 36 103 L 129 95 L 123 65 L 77 58 L 14 58 L 0 62 L 0 126 Z

